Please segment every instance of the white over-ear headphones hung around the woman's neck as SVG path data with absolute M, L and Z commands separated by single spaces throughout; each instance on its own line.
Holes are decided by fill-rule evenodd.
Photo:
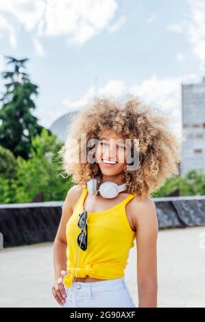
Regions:
M 100 195 L 104 198 L 115 198 L 121 191 L 127 189 L 126 184 L 115 184 L 112 181 L 107 181 L 99 186 L 99 182 L 101 181 L 101 175 L 98 175 L 96 179 L 91 179 L 87 182 L 88 193 L 91 195 L 95 195 L 97 191 L 99 191 Z

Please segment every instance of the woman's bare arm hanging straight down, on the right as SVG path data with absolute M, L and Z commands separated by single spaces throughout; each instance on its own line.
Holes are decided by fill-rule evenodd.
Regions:
M 132 212 L 136 227 L 138 307 L 157 307 L 158 218 L 152 199 L 134 198 Z

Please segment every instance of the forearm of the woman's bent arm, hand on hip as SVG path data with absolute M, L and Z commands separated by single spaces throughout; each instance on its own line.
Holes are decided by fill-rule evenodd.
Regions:
M 58 238 L 53 243 L 53 264 L 55 271 L 55 280 L 60 277 L 60 271 L 67 270 L 67 243 Z

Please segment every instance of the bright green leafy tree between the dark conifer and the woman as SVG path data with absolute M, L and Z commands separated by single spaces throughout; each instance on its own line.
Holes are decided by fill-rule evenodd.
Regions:
M 43 201 L 64 199 L 72 182 L 58 177 L 58 166 L 54 160 L 56 147 L 56 136 L 43 129 L 40 135 L 32 138 L 31 158 L 17 158 L 17 202 L 32 202 L 40 193 L 43 193 Z

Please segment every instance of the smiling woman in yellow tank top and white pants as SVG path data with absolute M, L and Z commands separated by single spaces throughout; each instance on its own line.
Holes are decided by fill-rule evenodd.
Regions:
M 158 220 L 150 195 L 178 174 L 180 140 L 169 121 L 133 97 L 94 99 L 77 114 L 60 150 L 64 171 L 75 183 L 53 244 L 52 293 L 61 306 L 135 307 L 124 270 L 136 239 L 138 307 L 157 307 Z M 125 190 L 112 198 L 93 196 L 87 184 L 97 176 L 98 188 L 114 182 Z

